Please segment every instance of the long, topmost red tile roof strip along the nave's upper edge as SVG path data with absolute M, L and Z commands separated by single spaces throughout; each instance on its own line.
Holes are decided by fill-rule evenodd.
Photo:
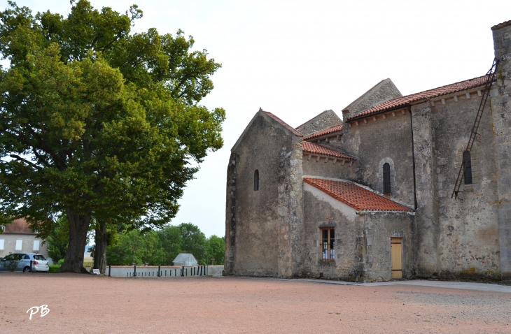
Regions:
M 437 96 L 452 94 L 456 92 L 461 92 L 465 89 L 475 88 L 486 85 L 486 83 L 495 80 L 494 74 L 483 75 L 479 78 L 473 78 L 470 80 L 456 82 L 451 85 L 438 87 L 435 89 L 426 90 L 425 92 L 420 92 L 416 94 L 411 94 L 407 96 L 402 96 L 398 99 L 392 99 L 386 101 L 384 103 L 380 103 L 378 106 L 374 106 L 368 110 L 358 113 L 357 115 L 351 116 L 346 119 L 346 122 L 350 122 L 354 119 L 359 119 L 363 117 L 367 117 L 379 112 L 384 112 L 386 110 L 391 110 L 395 108 L 404 107 L 409 103 L 424 100 L 424 99 L 432 99 Z

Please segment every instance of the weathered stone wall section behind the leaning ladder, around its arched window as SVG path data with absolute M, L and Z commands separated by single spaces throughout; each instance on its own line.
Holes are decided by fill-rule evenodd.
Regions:
M 418 215 L 435 217 L 435 231 L 439 233 L 436 247 L 437 273 L 446 278 L 500 278 L 498 249 L 498 224 L 496 203 L 495 160 L 491 106 L 486 103 L 472 147 L 472 184 L 461 184 L 458 198 L 451 198 L 458 170 L 466 150 L 472 125 L 481 103 L 477 92 L 460 92 L 435 102 L 430 106 L 434 127 L 435 164 L 432 166 L 436 191 L 426 201 L 438 203 L 437 208 L 419 205 Z M 419 110 L 416 110 L 418 112 Z M 414 119 L 415 122 L 415 119 Z M 419 123 L 419 122 L 417 122 Z M 421 124 L 417 124 L 420 129 Z M 419 147 L 418 147 L 419 148 Z M 418 180 L 423 180 L 426 170 L 419 170 Z M 422 194 L 421 194 L 422 196 Z M 437 210 L 426 212 L 426 210 Z M 419 225 L 420 226 L 420 225 Z M 419 249 L 419 252 L 421 250 Z M 427 252 L 427 251 L 426 251 Z

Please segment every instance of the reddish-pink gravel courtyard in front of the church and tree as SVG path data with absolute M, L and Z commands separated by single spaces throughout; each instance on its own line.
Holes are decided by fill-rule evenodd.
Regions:
M 31 307 L 48 305 L 48 313 Z M 0 333 L 511 333 L 511 293 L 0 273 Z

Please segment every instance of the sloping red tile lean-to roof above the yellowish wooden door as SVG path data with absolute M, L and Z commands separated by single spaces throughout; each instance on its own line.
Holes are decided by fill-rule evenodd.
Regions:
M 328 194 L 338 201 L 351 206 L 351 208 L 355 210 L 412 211 L 412 209 L 395 203 L 383 196 L 374 194 L 374 192 L 350 182 L 324 180 L 314 177 L 304 177 L 303 180 L 311 186 L 323 191 L 325 194 Z

